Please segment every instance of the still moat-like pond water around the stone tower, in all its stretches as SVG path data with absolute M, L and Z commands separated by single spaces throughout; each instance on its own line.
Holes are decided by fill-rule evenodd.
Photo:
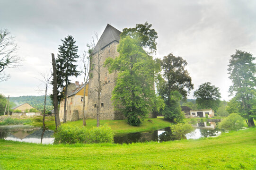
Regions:
M 204 126 L 207 125 L 207 126 Z M 201 127 L 200 127 L 201 126 Z M 194 125 L 196 129 L 186 134 L 185 137 L 187 139 L 198 139 L 200 137 L 209 137 L 209 136 L 219 136 L 221 132 L 212 126 L 211 123 L 201 123 L 198 125 Z M 207 128 L 209 127 L 209 128 Z M 28 143 L 41 143 L 43 129 L 40 127 L 33 127 L 28 125 L 7 125 L 0 126 L 0 139 L 19 141 L 19 142 L 28 142 Z M 42 137 L 42 144 L 53 144 L 53 130 L 45 130 Z M 151 131 L 151 132 L 137 132 L 125 134 L 122 136 L 114 136 L 115 144 L 131 144 L 137 142 L 149 142 L 149 141 L 170 141 L 175 140 L 171 134 L 170 127 L 166 127 L 163 129 Z

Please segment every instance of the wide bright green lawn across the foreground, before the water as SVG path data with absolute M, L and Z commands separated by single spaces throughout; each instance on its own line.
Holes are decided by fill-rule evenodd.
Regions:
M 256 170 L 256 128 L 140 144 L 43 145 L 0 140 L 3 170 Z

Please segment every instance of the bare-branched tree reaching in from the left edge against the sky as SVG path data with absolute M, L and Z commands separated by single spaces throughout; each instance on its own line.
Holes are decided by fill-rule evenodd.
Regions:
M 0 29 L 0 82 L 10 78 L 10 75 L 4 72 L 6 68 L 19 66 L 22 58 L 15 54 L 17 50 L 15 38 L 10 35 L 8 30 Z

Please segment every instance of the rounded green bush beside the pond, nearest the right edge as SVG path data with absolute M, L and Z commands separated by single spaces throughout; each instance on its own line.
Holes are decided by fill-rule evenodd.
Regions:
M 237 113 L 230 114 L 227 118 L 224 118 L 218 125 L 219 128 L 224 130 L 238 130 L 243 127 L 243 118 Z

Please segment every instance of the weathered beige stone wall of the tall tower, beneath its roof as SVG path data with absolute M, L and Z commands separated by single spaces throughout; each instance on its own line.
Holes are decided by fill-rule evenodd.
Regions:
M 104 49 L 100 51 L 100 55 L 102 60 L 100 64 L 103 64 L 106 58 L 111 57 L 115 59 L 116 56 L 119 56 L 116 48 L 119 42 L 112 42 L 107 45 Z M 92 56 L 91 67 L 93 67 L 93 63 L 97 62 L 97 53 Z M 97 66 L 95 66 L 97 67 Z M 101 83 L 102 83 L 102 91 L 101 91 L 101 105 L 100 107 L 100 119 L 124 119 L 124 116 L 121 113 L 115 113 L 113 102 L 111 101 L 112 91 L 115 87 L 115 79 L 117 77 L 117 73 L 114 72 L 110 74 L 107 68 L 101 67 Z M 88 87 L 88 110 L 87 110 L 87 118 L 97 118 L 97 108 L 94 107 L 97 104 L 97 91 L 95 88 L 98 86 L 98 75 L 95 70 L 92 71 L 92 78 L 89 80 Z

